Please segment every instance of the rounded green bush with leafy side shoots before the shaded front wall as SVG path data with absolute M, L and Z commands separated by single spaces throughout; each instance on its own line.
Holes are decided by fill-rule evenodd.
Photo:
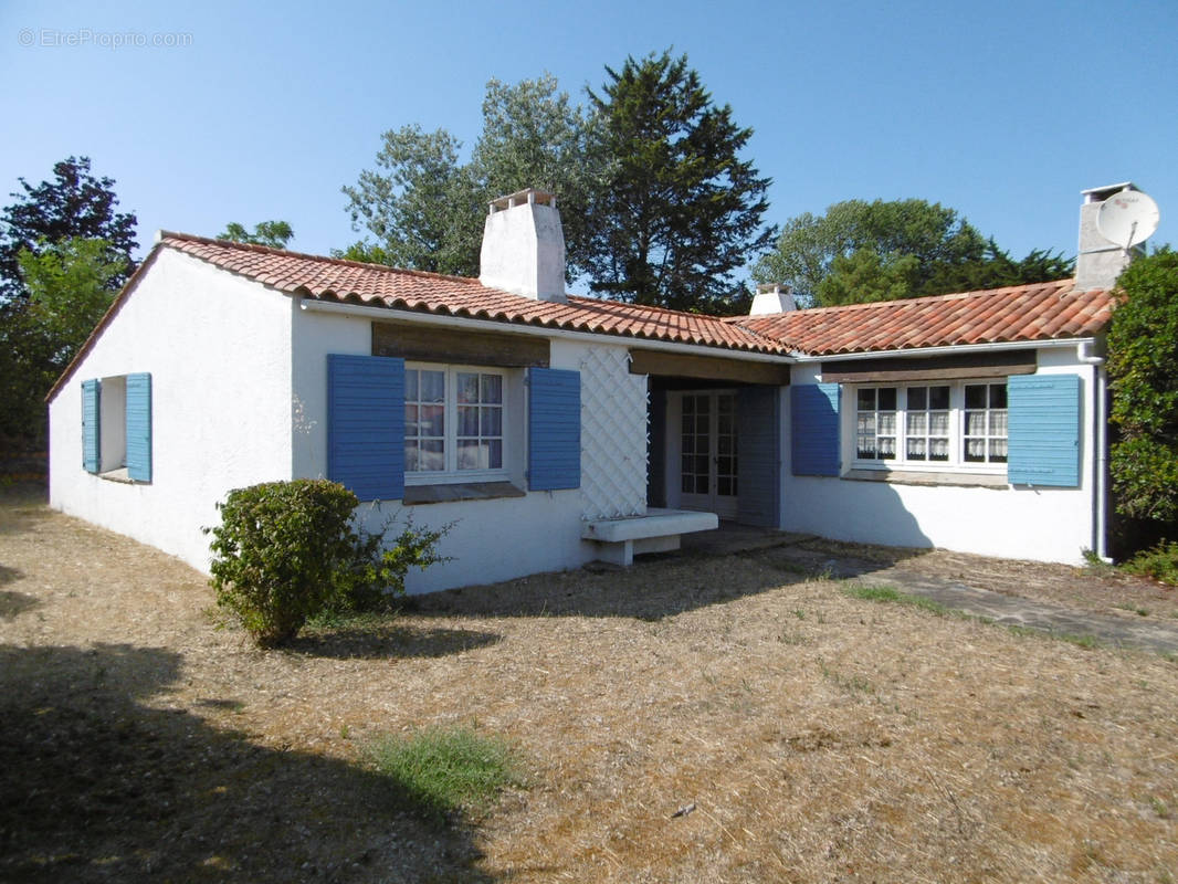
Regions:
M 404 593 L 411 566 L 441 561 L 445 534 L 406 523 L 390 548 L 385 534 L 357 529 L 358 500 L 336 482 L 296 479 L 230 492 L 212 533 L 217 605 L 262 646 L 292 639 L 307 619 L 388 603 Z

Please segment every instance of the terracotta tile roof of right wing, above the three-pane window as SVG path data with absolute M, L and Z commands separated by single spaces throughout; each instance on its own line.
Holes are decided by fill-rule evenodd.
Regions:
M 1090 337 L 1108 324 L 1113 297 L 1103 289 L 1074 291 L 1073 283 L 1060 279 L 724 322 L 812 356 Z

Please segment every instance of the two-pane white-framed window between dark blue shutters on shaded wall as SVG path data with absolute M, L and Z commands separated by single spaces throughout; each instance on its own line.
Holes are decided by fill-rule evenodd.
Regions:
M 505 407 L 504 371 L 406 365 L 406 481 L 505 475 Z

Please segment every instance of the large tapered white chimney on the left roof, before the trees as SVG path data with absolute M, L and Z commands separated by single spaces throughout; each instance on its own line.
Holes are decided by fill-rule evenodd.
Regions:
M 478 282 L 537 301 L 567 301 L 556 197 L 528 187 L 489 205 Z

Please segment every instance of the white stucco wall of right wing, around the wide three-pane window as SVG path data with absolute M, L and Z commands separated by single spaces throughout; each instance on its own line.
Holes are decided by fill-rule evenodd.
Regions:
M 815 364 L 793 370 L 794 384 L 815 383 Z M 789 391 L 782 408 L 781 527 L 835 540 L 940 547 L 1008 559 L 1079 563 L 1093 547 L 1093 367 L 1074 348 L 1039 351 L 1040 375 L 1080 377 L 1080 486 L 1078 488 L 964 488 L 794 476 L 790 464 Z M 843 440 L 853 433 L 854 400 L 843 390 Z M 848 447 L 843 448 L 843 469 Z

